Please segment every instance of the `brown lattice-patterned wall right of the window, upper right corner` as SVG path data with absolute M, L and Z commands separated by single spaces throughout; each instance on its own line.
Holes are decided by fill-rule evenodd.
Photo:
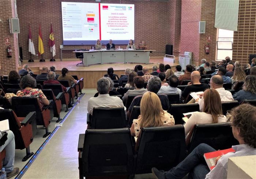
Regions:
M 238 11 L 238 31 L 234 32 L 233 61 L 244 66 L 249 63 L 249 55 L 256 54 L 256 0 L 240 0 Z

